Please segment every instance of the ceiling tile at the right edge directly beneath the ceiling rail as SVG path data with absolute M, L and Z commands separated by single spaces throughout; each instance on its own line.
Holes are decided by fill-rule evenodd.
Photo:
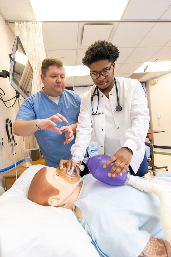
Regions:
M 139 47 L 162 47 L 170 40 L 171 22 L 158 22 L 139 44 Z

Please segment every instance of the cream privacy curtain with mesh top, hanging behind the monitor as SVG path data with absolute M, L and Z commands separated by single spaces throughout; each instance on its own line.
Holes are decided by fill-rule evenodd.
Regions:
M 19 36 L 27 57 L 33 69 L 33 82 L 31 94 L 35 94 L 43 87 L 40 74 L 42 61 L 46 58 L 43 43 L 42 23 L 37 22 L 15 22 L 15 36 Z M 25 137 L 26 149 L 38 147 L 34 135 Z

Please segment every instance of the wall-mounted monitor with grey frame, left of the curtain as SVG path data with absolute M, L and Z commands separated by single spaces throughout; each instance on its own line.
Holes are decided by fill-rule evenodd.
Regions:
M 23 98 L 27 98 L 30 96 L 31 92 L 33 69 L 19 36 L 15 39 L 11 55 L 9 71 L 11 75 L 11 86 L 15 91 L 18 91 Z

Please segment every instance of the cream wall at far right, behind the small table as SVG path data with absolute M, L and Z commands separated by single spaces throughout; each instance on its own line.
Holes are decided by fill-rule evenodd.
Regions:
M 150 125 L 152 130 L 165 132 L 152 134 L 152 142 L 154 145 L 171 147 L 171 72 L 156 78 L 158 82 L 155 84 L 151 84 L 151 79 L 146 82 Z

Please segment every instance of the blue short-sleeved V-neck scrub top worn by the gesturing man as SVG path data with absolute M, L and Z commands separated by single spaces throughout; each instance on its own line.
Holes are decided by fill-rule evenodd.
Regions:
M 81 97 L 74 91 L 65 89 L 57 105 L 41 90 L 24 100 L 19 108 L 16 119 L 23 119 L 25 121 L 46 119 L 56 113 L 60 113 L 68 121 L 68 123 L 64 121 L 57 122 L 57 128 L 61 128 L 62 126 L 68 126 L 78 121 L 80 103 Z M 56 168 L 59 166 L 61 159 L 68 160 L 71 158 L 70 148 L 75 143 L 76 133 L 74 133 L 72 142 L 65 145 L 66 137 L 63 131 L 59 135 L 54 131 L 43 129 L 36 131 L 34 135 L 47 166 Z

